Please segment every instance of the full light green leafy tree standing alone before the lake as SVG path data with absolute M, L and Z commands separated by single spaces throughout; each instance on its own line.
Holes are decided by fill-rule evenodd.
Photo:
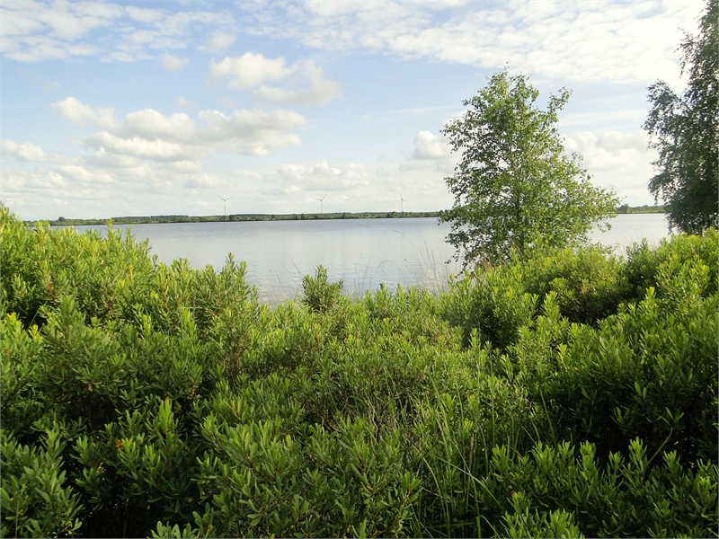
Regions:
M 472 261 L 505 260 L 512 249 L 573 246 L 592 225 L 616 213 L 615 193 L 590 183 L 579 155 L 565 155 L 557 113 L 571 92 L 550 95 L 547 110 L 524 75 L 505 69 L 472 99 L 443 133 L 462 159 L 445 179 L 453 207 L 448 242 Z

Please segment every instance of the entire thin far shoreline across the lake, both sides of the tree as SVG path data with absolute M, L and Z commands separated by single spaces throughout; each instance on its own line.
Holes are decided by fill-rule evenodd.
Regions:
M 666 213 L 663 206 L 628 206 L 617 208 L 617 214 L 652 214 Z M 442 211 L 365 211 L 365 212 L 333 212 L 333 213 L 293 213 L 293 214 L 231 214 L 227 216 L 122 216 L 109 219 L 71 219 L 58 217 L 54 220 L 26 221 L 31 225 L 49 223 L 50 226 L 70 225 L 155 225 L 163 223 L 217 223 L 248 221 L 315 221 L 327 219 L 405 219 L 416 217 L 439 217 Z

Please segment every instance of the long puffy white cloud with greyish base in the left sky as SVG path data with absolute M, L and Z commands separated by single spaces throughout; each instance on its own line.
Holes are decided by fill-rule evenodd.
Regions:
M 157 110 L 138 110 L 122 121 L 112 109 L 93 108 L 68 97 L 52 103 L 77 125 L 95 124 L 104 130 L 84 138 L 87 146 L 116 155 L 154 161 L 192 161 L 218 151 L 269 155 L 271 150 L 299 144 L 292 131 L 306 119 L 291 110 L 235 110 L 226 116 L 202 110 L 195 121 L 183 112 L 169 116 Z

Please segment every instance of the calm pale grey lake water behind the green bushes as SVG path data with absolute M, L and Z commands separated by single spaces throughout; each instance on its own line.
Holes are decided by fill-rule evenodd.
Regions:
M 656 244 L 669 235 L 663 214 L 619 215 L 611 225 L 610 231 L 595 230 L 590 238 L 618 253 L 642 238 Z M 450 274 L 461 271 L 458 262 L 446 263 L 454 254 L 444 241 L 448 231 L 448 224 L 438 225 L 433 217 L 132 226 L 135 238 L 148 238 L 150 252 L 167 264 L 186 258 L 193 268 L 209 264 L 221 270 L 227 253 L 234 253 L 236 261 L 247 263 L 247 280 L 259 288 L 260 300 L 271 304 L 296 297 L 302 277 L 314 274 L 320 264 L 330 280 L 344 279 L 344 291 L 351 296 L 376 290 L 380 283 L 444 287 Z

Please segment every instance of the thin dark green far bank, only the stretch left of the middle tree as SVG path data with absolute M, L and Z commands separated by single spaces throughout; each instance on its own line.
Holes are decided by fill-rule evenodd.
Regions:
M 303 221 L 315 219 L 391 219 L 404 217 L 438 217 L 439 211 L 363 211 L 359 213 L 337 212 L 322 214 L 232 214 L 229 216 L 131 216 L 112 217 L 114 225 L 144 225 L 159 223 L 214 223 L 217 221 Z M 66 225 L 105 225 L 107 219 L 66 219 L 58 217 L 49 221 L 52 226 Z M 44 221 L 42 221 L 44 222 Z M 40 223 L 38 221 L 37 223 Z

